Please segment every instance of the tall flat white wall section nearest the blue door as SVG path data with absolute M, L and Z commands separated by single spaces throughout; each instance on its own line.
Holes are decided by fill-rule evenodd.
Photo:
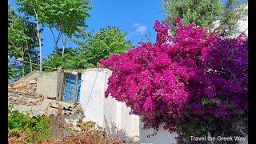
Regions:
M 105 73 L 101 69 L 86 69 L 82 72 L 80 105 L 86 121 L 97 122 L 104 126 L 103 98 Z

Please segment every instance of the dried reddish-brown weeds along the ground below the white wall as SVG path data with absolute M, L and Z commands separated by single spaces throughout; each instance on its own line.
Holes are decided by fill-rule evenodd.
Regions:
M 106 129 L 98 126 L 96 122 L 82 122 L 82 119 L 79 119 L 77 127 L 81 130 L 74 130 L 73 126 L 68 125 L 65 122 L 62 122 L 61 115 L 58 115 L 49 123 L 51 128 L 52 136 L 43 139 L 42 141 L 35 141 L 34 138 L 30 138 L 28 141 L 28 131 L 22 130 L 18 134 L 9 134 L 8 143 L 53 143 L 53 144 L 64 144 L 64 143 L 89 143 L 89 144 L 120 144 L 123 143 L 121 138 L 111 138 L 107 134 Z M 58 131 L 54 131 L 53 127 L 58 126 Z M 64 130 L 70 132 L 71 136 L 64 137 Z M 39 133 L 35 133 L 32 137 L 40 136 Z M 30 136 L 31 137 L 31 136 Z M 60 140 L 60 138 L 62 138 Z

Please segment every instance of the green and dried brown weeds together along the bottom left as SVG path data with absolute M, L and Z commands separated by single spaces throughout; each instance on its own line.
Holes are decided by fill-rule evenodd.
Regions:
M 79 122 L 78 126 L 82 128 L 82 134 L 76 133 L 63 123 L 58 123 L 72 133 L 70 137 L 60 140 L 53 137 L 53 123 L 50 122 L 50 117 L 30 118 L 27 114 L 11 108 L 8 116 L 10 143 L 122 143 L 119 138 L 110 138 L 106 130 L 95 122 Z

